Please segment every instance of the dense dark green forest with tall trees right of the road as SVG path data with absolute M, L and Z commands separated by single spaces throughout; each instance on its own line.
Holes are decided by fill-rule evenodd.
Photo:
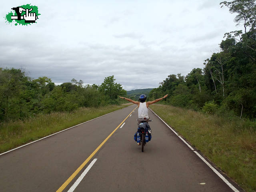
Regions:
M 239 118 L 256 119 L 256 4 L 255 0 L 221 2 L 242 30 L 224 34 L 221 51 L 205 59 L 204 68 L 193 69 L 186 77 L 168 75 L 153 89 L 150 99 L 169 94 L 166 103 L 203 110 L 230 113 Z

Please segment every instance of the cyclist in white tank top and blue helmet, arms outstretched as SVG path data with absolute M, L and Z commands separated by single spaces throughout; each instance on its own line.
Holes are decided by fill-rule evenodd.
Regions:
M 148 101 L 145 102 L 147 99 L 147 96 L 145 94 L 140 95 L 139 97 L 139 101 L 133 101 L 132 99 L 128 99 L 125 97 L 120 97 L 121 99 L 125 99 L 126 101 L 130 101 L 131 103 L 134 103 L 136 105 L 138 105 L 138 124 L 142 123 L 142 122 L 148 122 L 149 117 L 148 117 L 148 106 L 156 103 L 158 101 L 161 101 L 162 99 L 166 98 L 168 96 L 164 95 L 164 97 L 159 98 L 159 99 L 155 99 L 154 101 Z M 139 145 L 140 143 L 138 143 Z

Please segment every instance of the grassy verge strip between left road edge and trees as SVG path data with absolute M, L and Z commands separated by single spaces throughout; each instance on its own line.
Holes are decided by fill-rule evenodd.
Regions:
M 1 123 L 0 153 L 127 106 L 82 107 L 70 113 L 40 114 L 24 121 Z

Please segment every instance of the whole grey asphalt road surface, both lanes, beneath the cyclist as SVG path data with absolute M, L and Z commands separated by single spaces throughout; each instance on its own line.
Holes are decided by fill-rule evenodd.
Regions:
M 0 155 L 0 192 L 57 191 L 135 107 Z M 137 116 L 136 109 L 63 192 L 95 158 L 74 192 L 233 192 L 151 111 L 152 140 L 141 152 L 133 139 Z

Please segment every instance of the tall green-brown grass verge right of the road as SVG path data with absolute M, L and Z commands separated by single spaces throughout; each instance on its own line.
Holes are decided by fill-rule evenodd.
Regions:
M 150 108 L 248 192 L 256 191 L 256 123 L 172 107 Z

